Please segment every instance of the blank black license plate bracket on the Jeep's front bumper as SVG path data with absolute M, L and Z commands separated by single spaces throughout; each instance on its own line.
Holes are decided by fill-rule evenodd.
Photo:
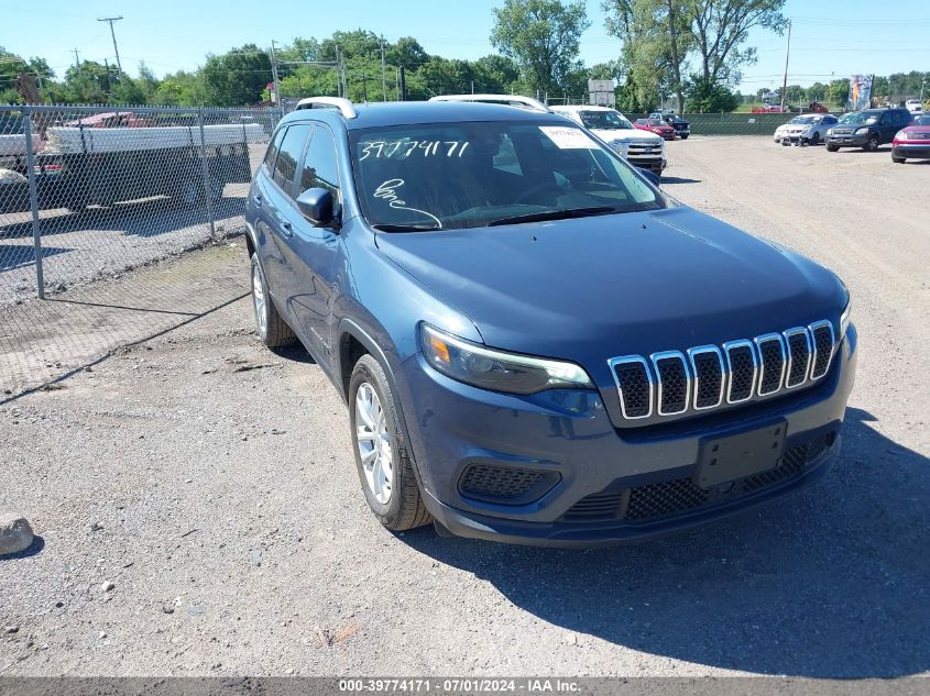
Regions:
M 787 422 L 701 441 L 694 484 L 713 488 L 778 466 L 785 452 Z

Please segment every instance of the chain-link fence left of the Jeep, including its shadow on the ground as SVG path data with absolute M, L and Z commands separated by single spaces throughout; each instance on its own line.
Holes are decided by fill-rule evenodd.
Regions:
M 169 323 L 155 316 L 196 316 L 242 289 L 195 268 L 206 257 L 194 252 L 244 230 L 249 183 L 280 118 L 0 107 L 0 401 Z M 187 279 L 172 284 L 179 264 Z

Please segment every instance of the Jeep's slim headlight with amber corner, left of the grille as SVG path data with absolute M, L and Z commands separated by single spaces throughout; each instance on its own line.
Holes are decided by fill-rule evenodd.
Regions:
M 593 389 L 588 373 L 573 363 L 505 353 L 420 324 L 426 362 L 444 375 L 482 389 L 536 394 L 544 389 Z

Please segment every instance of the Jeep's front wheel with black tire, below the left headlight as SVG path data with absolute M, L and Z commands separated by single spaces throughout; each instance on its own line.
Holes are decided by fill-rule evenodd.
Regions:
M 391 383 L 371 355 L 359 358 L 349 379 L 349 424 L 359 480 L 378 520 L 391 531 L 433 521 L 423 505 Z

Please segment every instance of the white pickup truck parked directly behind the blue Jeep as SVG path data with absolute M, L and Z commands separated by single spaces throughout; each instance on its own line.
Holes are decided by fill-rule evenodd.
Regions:
M 630 164 L 648 169 L 661 177 L 668 162 L 665 141 L 655 133 L 633 128 L 620 111 L 610 107 L 549 107 L 549 109 L 580 123 L 604 141 Z

